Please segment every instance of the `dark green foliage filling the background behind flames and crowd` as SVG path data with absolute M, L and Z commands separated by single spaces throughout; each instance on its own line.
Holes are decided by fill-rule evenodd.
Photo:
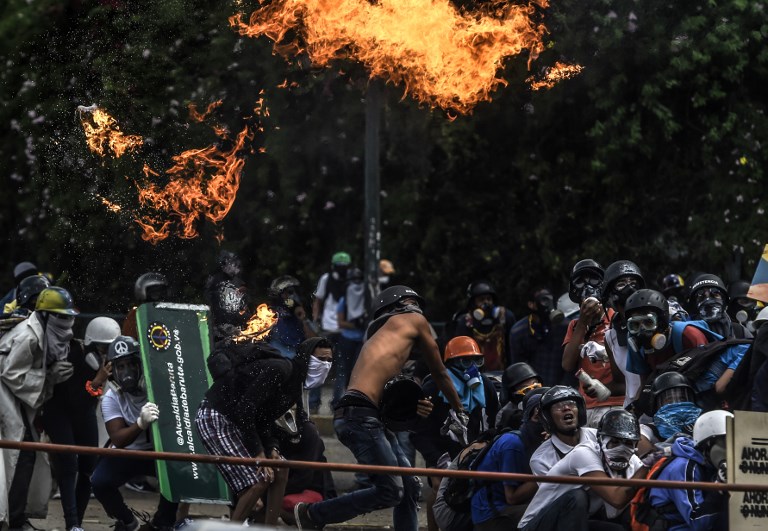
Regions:
M 242 255 L 256 298 L 283 273 L 311 289 L 337 249 L 362 262 L 360 65 L 289 64 L 266 39 L 230 30 L 228 2 L 3 6 L 0 271 L 32 260 L 65 272 L 83 309 L 122 311 L 148 269 L 199 299 L 222 247 Z M 751 278 L 768 234 L 766 2 L 552 0 L 544 20 L 549 47 L 534 72 L 556 60 L 585 67 L 551 90 L 527 88 L 525 57 L 509 58 L 493 102 L 455 120 L 386 87 L 382 256 L 400 279 L 441 319 L 478 277 L 520 312 L 530 287 L 563 290 L 587 256 L 634 259 L 652 281 Z M 291 88 L 278 88 L 285 80 Z M 215 140 L 189 126 L 188 103 L 222 99 L 216 117 L 236 132 L 261 90 L 270 117 L 221 226 L 152 246 L 129 214 L 101 205 L 136 209 L 142 160 L 167 167 Z M 75 109 L 91 103 L 148 139 L 140 156 L 86 150 Z

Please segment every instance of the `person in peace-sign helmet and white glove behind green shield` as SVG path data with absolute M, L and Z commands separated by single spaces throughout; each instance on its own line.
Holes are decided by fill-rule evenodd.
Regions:
M 117 336 L 107 350 L 107 363 L 112 364 L 110 387 L 101 401 L 101 412 L 112 442 L 112 448 L 152 450 L 150 425 L 160 416 L 157 405 L 147 401 L 147 388 L 141 366 L 139 343 L 130 336 Z M 135 513 L 125 504 L 119 488 L 131 478 L 156 475 L 151 459 L 104 456 L 99 459 L 91 477 L 93 494 L 104 511 L 115 521 L 115 531 L 134 531 L 139 527 Z M 152 529 L 171 529 L 176 523 L 178 504 L 160 496 L 152 520 Z

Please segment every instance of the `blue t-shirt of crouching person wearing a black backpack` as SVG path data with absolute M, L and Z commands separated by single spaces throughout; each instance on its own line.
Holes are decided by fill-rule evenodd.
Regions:
M 514 472 L 518 474 L 530 474 L 531 467 L 528 464 L 528 455 L 522 439 L 516 433 L 505 433 L 499 437 L 494 445 L 485 454 L 483 461 L 477 470 L 481 472 Z M 498 516 L 499 512 L 507 506 L 504 496 L 504 485 L 517 487 L 519 481 L 492 482 L 490 488 L 485 485 L 480 487 L 472 496 L 472 522 L 479 524 Z M 491 494 L 493 506 L 488 503 L 488 494 Z

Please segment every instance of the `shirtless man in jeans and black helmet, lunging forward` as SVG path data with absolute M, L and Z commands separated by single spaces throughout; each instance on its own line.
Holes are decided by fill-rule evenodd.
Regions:
M 400 374 L 412 349 L 423 356 L 438 389 L 459 418 L 466 419 L 456 389 L 440 358 L 429 322 L 421 313 L 423 299 L 411 288 L 392 286 L 379 295 L 367 341 L 352 369 L 349 388 L 336 405 L 334 429 L 358 463 L 408 467 L 395 434 L 381 421 L 379 404 L 384 386 Z M 424 404 L 421 405 L 421 408 Z M 422 409 L 423 411 L 423 409 Z M 396 531 L 417 531 L 419 482 L 413 476 L 371 476 L 373 486 L 319 503 L 299 503 L 294 509 L 301 529 L 322 529 L 371 511 L 393 507 Z

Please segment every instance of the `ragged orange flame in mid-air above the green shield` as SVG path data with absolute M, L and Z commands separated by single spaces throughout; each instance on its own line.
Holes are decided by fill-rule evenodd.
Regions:
M 223 128 L 216 128 L 215 131 L 220 138 L 227 138 Z M 168 214 L 178 222 L 178 235 L 184 239 L 198 235 L 196 224 L 201 217 L 213 223 L 224 219 L 240 188 L 240 176 L 245 165 L 241 151 L 245 141 L 252 138 L 253 133 L 246 126 L 229 151 L 208 146 L 175 155 L 172 158 L 174 165 L 165 170 L 171 178 L 165 186 L 136 183 L 139 203 L 156 213 L 136 219 L 143 230 L 142 239 L 154 244 L 170 235 L 171 222 L 160 220 L 159 213 Z M 144 167 L 144 174 L 146 177 L 158 175 L 148 166 Z

